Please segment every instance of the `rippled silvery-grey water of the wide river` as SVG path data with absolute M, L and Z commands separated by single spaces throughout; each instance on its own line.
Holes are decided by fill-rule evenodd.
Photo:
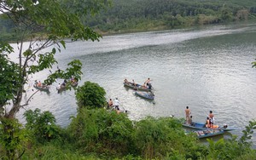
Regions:
M 256 58 L 255 44 L 256 25 L 207 26 L 67 43 L 57 60 L 61 69 L 71 60 L 81 60 L 84 74 L 79 85 L 98 83 L 107 92 L 106 100 L 118 97 L 132 120 L 184 117 L 189 106 L 194 121 L 204 122 L 212 110 L 216 123 L 227 123 L 237 129 L 232 134 L 241 135 L 256 117 L 256 68 L 251 64 Z M 26 97 L 32 94 L 32 82 L 48 75 L 49 71 L 43 71 L 33 76 Z M 148 77 L 154 101 L 143 100 L 123 86 L 125 78 L 144 83 Z M 77 105 L 73 90 L 57 94 L 60 82 L 51 86 L 49 94 L 36 94 L 26 108 L 51 111 L 58 124 L 67 126 Z

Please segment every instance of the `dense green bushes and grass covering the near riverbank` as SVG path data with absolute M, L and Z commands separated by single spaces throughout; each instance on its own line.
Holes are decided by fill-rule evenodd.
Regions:
M 44 119 L 41 117 L 44 113 L 38 109 L 27 111 L 26 114 L 26 130 L 31 136 L 39 122 L 43 122 L 44 126 L 47 121 L 37 121 Z M 49 115 L 45 115 L 48 117 L 46 119 L 54 118 Z M 146 117 L 132 122 L 124 113 L 81 108 L 67 129 L 63 129 L 65 132 L 55 132 L 58 139 L 49 140 L 44 144 L 38 143 L 37 139 L 32 140 L 32 146 L 27 146 L 23 158 L 254 159 L 256 151 L 248 141 L 253 134 L 252 129 L 255 129 L 255 121 L 249 123 L 239 140 L 236 136 L 230 140 L 220 139 L 216 142 L 208 139 L 209 145 L 202 146 L 195 134 L 184 134 L 181 120 L 174 117 Z

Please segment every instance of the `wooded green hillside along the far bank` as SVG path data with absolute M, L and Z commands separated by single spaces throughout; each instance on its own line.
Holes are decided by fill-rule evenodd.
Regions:
M 112 8 L 81 19 L 100 33 L 165 30 L 183 26 L 256 19 L 251 0 L 112 0 Z M 0 40 L 15 37 L 12 22 L 0 16 Z

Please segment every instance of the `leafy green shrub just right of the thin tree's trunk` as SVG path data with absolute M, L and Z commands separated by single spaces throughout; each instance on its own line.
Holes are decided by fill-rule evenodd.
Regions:
M 60 127 L 55 124 L 55 117 L 49 111 L 28 110 L 24 113 L 26 117 L 26 129 L 30 137 L 36 141 L 44 143 L 56 139 L 60 136 Z

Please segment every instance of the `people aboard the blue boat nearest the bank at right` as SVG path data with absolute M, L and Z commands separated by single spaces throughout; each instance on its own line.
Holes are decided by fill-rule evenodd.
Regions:
M 192 121 L 192 115 L 191 115 L 191 111 L 189 110 L 189 106 L 186 106 L 186 109 L 185 109 L 185 114 L 186 114 L 186 123 L 193 126 L 194 123 Z M 213 125 L 214 123 L 214 115 L 212 113 L 212 111 L 209 111 L 209 115 L 207 117 L 207 120 L 206 120 L 206 128 L 218 128 L 217 125 Z

